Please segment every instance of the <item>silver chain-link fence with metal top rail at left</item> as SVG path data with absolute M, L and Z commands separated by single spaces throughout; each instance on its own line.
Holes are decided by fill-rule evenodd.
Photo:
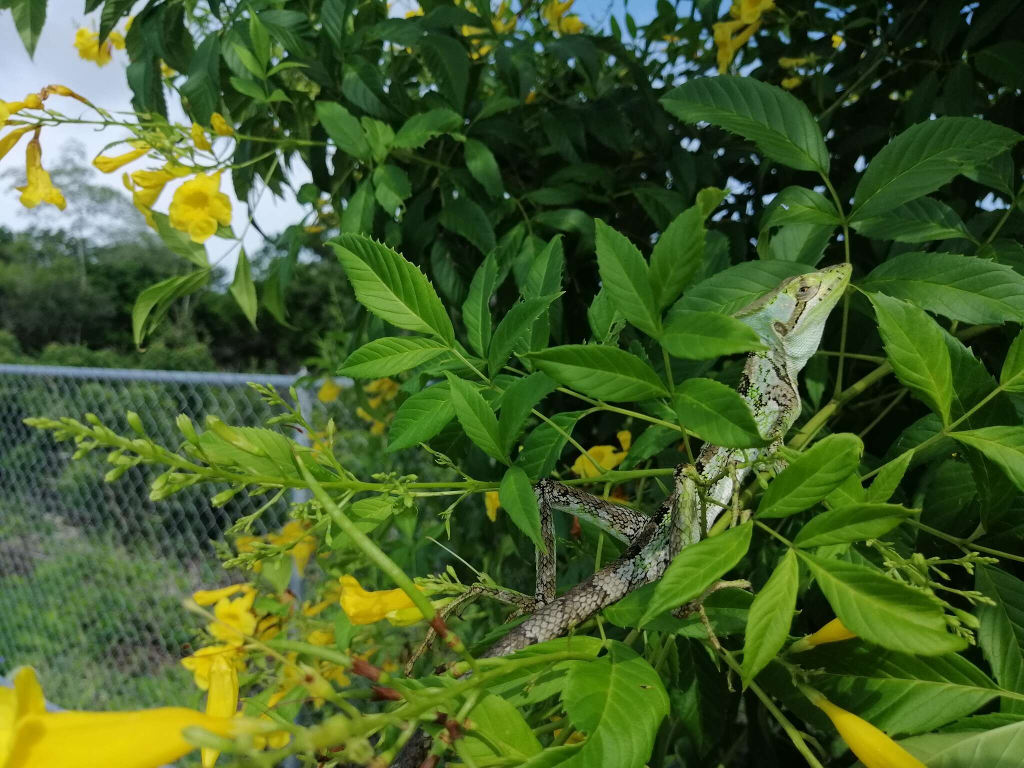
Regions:
M 67 709 L 198 703 L 178 664 L 196 624 L 181 601 L 226 583 L 211 540 L 265 499 L 240 494 L 216 509 L 216 489 L 197 485 L 154 503 L 158 470 L 136 467 L 105 483 L 104 452 L 73 462 L 73 443 L 23 419 L 92 413 L 130 433 L 125 414 L 134 411 L 174 447 L 178 414 L 261 425 L 271 413 L 250 381 L 285 394 L 295 378 L 0 366 L 0 673 L 36 667 L 48 697 Z M 308 389 L 299 398 L 323 408 Z M 260 523 L 280 524 L 286 510 L 282 502 Z

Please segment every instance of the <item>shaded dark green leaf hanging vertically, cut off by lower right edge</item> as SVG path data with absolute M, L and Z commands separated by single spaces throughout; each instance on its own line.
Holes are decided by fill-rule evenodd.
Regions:
M 978 567 L 974 588 L 994 605 L 978 603 L 978 644 L 1007 690 L 1024 693 L 1024 582 L 989 565 Z M 1002 699 L 1002 712 L 1024 715 L 1024 701 Z

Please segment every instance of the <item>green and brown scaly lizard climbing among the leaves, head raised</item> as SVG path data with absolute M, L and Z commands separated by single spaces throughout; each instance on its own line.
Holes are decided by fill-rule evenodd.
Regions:
M 535 485 L 546 550 L 537 552 L 537 588 L 532 600 L 515 602 L 517 613 L 530 615 L 488 648 L 483 657 L 503 656 L 535 643 L 560 637 L 630 592 L 656 581 L 684 547 L 707 534 L 731 505 L 734 492 L 758 461 L 772 459 L 800 416 L 797 377 L 817 351 L 825 321 L 850 282 L 849 264 L 838 264 L 782 281 L 775 289 L 734 313 L 758 335 L 762 348 L 751 352 L 737 391 L 750 406 L 765 447 L 730 449 L 705 443 L 692 464 L 673 473 L 673 492 L 654 515 L 592 496 L 556 480 Z M 592 522 L 627 545 L 623 554 L 564 594 L 555 596 L 553 512 Z M 423 744 L 418 733 L 392 768 L 418 766 Z M 407 754 L 409 753 L 409 754 Z

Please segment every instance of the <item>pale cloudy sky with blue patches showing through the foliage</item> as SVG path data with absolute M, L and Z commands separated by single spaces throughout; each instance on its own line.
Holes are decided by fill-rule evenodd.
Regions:
M 413 7 L 414 4 L 415 0 L 396 0 L 393 10 L 396 14 L 400 14 L 403 13 L 406 6 Z M 688 6 L 688 3 L 684 2 L 683 4 Z M 98 11 L 84 14 L 82 12 L 83 6 L 82 0 L 49 0 L 46 24 L 43 27 L 34 59 L 29 58 L 29 54 L 14 29 L 10 12 L 0 11 L 0 51 L 3 51 L 3 66 L 0 70 L 3 73 L 3 78 L 0 79 L 0 99 L 19 100 L 26 93 L 38 91 L 43 86 L 56 83 L 83 94 L 112 113 L 131 110 L 131 91 L 125 79 L 125 68 L 128 66 L 127 54 L 124 51 L 115 51 L 114 60 L 102 68 L 97 67 L 93 61 L 82 59 L 78 55 L 74 46 L 75 32 L 80 27 L 97 29 L 99 24 Z M 655 0 L 633 0 L 628 5 L 624 0 L 577 0 L 572 11 L 578 12 L 585 22 L 591 25 L 603 25 L 611 12 L 621 17 L 624 7 L 629 8 L 638 24 L 644 24 L 655 13 Z M 123 26 L 122 23 L 119 28 Z M 76 110 L 78 104 L 71 99 L 58 99 L 56 96 L 50 98 L 54 101 L 59 100 L 60 103 L 56 105 L 56 109 L 70 117 L 85 116 L 86 114 L 84 110 Z M 176 114 L 172 112 L 169 117 L 173 121 L 187 122 L 180 109 Z M 46 167 L 48 162 L 53 164 L 71 141 L 82 142 L 85 145 L 87 156 L 92 158 L 99 154 L 104 145 L 117 138 L 120 138 L 120 135 L 118 135 L 116 128 L 109 128 L 105 131 L 91 130 L 84 126 L 47 128 L 42 132 L 40 139 L 43 150 L 43 166 Z M 220 140 L 226 141 L 226 139 Z M 0 176 L 11 171 L 17 172 L 24 167 L 24 146 L 23 142 L 6 158 L 0 160 Z M 137 170 L 144 167 L 146 167 L 145 162 L 138 161 L 134 166 L 129 166 L 127 170 Z M 307 179 L 308 173 L 305 168 L 293 168 L 291 182 L 294 188 L 297 189 Z M 118 189 L 125 194 L 126 198 L 128 197 L 121 183 L 121 172 L 103 175 L 96 171 L 95 178 L 92 180 Z M 221 181 L 221 189 L 230 195 L 230 179 L 226 174 Z M 12 188 L 9 178 L 0 180 L 0 225 L 12 229 L 24 229 L 33 222 L 40 224 L 43 217 L 45 217 L 46 225 L 59 225 L 57 218 L 60 216 L 59 211 L 52 209 L 38 212 L 39 209 L 37 209 L 37 212 L 30 213 L 17 202 L 17 196 L 18 193 Z M 165 191 L 164 197 L 156 206 L 157 210 L 166 211 L 169 200 L 170 195 Z M 260 197 L 253 212 L 253 218 L 263 231 L 274 233 L 301 219 L 304 212 L 305 208 L 296 203 L 291 196 L 282 200 L 270 194 L 265 194 Z M 237 202 L 232 207 L 232 214 L 234 231 L 246 232 L 244 237 L 246 250 L 250 253 L 258 250 L 262 245 L 262 237 L 255 228 L 247 228 L 250 216 L 247 206 Z M 141 220 L 140 214 L 139 220 Z M 237 247 L 231 241 L 211 239 L 207 243 L 207 251 L 212 262 L 219 262 L 228 269 L 233 267 L 237 259 Z

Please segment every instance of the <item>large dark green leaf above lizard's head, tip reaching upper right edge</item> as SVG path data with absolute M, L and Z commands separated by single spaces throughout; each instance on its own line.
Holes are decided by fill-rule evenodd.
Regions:
M 935 191 L 963 172 L 1020 140 L 1010 128 L 976 118 L 938 118 L 910 126 L 874 156 L 854 194 L 851 220 L 884 216 Z

